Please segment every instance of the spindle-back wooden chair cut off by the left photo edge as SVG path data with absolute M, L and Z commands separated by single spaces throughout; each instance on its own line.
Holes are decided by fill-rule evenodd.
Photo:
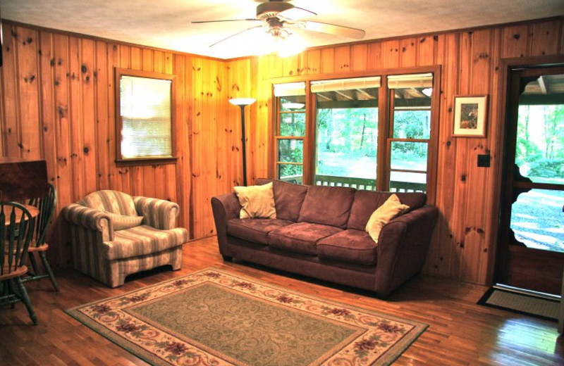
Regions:
M 33 311 L 22 277 L 27 273 L 25 260 L 33 236 L 34 218 L 30 211 L 16 202 L 0 203 L 0 306 L 22 301 L 33 324 L 37 316 Z

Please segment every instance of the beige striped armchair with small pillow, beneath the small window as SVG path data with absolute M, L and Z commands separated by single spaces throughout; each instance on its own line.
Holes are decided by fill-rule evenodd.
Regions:
M 71 227 L 72 266 L 110 287 L 161 265 L 179 270 L 188 232 L 175 228 L 178 210 L 177 203 L 110 190 L 71 203 L 61 213 Z

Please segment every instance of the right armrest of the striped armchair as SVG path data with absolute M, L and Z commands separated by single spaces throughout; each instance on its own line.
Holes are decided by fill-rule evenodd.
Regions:
M 155 229 L 169 230 L 176 227 L 176 217 L 180 213 L 178 203 L 159 198 L 133 197 L 137 215 L 143 216 L 143 223 Z

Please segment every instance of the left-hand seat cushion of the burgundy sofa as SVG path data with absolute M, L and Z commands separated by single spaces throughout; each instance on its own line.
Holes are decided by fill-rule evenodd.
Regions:
M 257 244 L 268 244 L 269 232 L 293 224 L 278 219 L 232 219 L 227 222 L 227 234 Z

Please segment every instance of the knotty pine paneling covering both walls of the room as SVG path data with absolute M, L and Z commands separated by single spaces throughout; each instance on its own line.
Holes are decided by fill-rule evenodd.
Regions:
M 59 210 L 93 189 L 120 189 L 180 204 L 190 237 L 215 234 L 209 199 L 240 184 L 240 111 L 228 99 L 253 97 L 245 108 L 247 174 L 274 176 L 271 80 L 277 77 L 441 68 L 439 151 L 434 204 L 440 219 L 424 272 L 485 284 L 495 257 L 501 167 L 503 58 L 564 54 L 563 17 L 476 30 L 398 37 L 309 49 L 289 58 L 221 61 L 4 23 L 1 68 L 3 156 L 45 158 Z M 117 168 L 114 67 L 176 75 L 176 165 Z M 453 97 L 489 96 L 486 138 L 453 137 Z M 478 168 L 478 154 L 491 168 Z M 50 257 L 66 265 L 57 220 Z M 51 259 L 51 258 L 50 258 Z

